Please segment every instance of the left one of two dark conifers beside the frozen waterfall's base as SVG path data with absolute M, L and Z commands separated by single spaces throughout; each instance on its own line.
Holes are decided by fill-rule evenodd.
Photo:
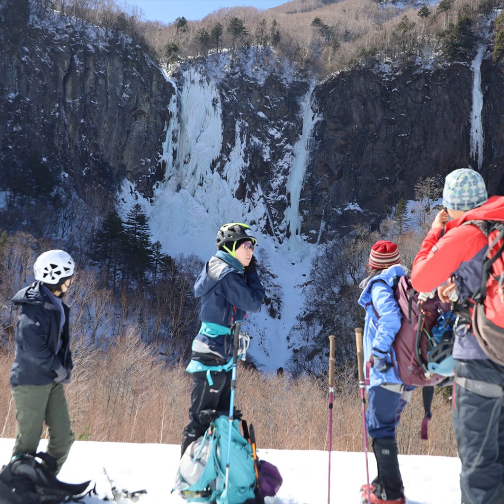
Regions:
M 105 262 L 107 271 L 106 282 L 112 278 L 112 289 L 115 291 L 117 276 L 124 263 L 124 248 L 126 233 L 123 223 L 117 212 L 113 210 L 103 221 L 100 230 L 96 233 L 91 257 L 98 263 Z

